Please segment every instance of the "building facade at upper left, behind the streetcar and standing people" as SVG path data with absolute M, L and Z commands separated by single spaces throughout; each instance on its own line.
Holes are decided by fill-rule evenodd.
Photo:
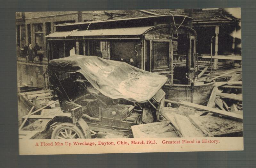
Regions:
M 37 43 L 45 50 L 44 37 L 55 31 L 55 25 L 106 18 L 97 11 L 16 12 L 17 44 L 22 50 L 25 45 Z

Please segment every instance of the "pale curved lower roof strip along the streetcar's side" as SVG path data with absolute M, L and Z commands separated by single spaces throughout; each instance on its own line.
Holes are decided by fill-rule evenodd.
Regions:
M 99 30 L 74 30 L 68 32 L 54 32 L 45 38 L 54 37 L 74 37 L 74 36 L 116 36 L 116 35 L 141 35 L 148 29 L 154 26 L 145 27 L 128 27 L 128 28 L 116 28 L 116 29 L 99 29 Z

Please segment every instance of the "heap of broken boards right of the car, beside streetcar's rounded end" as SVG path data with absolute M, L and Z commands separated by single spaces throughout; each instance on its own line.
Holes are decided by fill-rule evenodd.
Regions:
M 203 80 L 209 78 L 209 74 L 204 75 L 206 69 L 200 74 Z M 217 82 L 206 106 L 165 100 L 166 103 L 179 106 L 176 109 L 165 107 L 163 115 L 180 137 L 243 136 L 241 70 L 231 69 L 212 74 L 212 80 Z M 202 79 L 198 78 L 197 81 Z

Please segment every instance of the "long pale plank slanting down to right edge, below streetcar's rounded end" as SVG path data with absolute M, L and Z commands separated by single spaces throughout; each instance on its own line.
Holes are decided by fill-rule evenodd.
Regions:
M 207 106 L 198 105 L 198 104 L 195 104 L 195 103 L 190 103 L 190 102 L 186 102 L 186 101 L 177 102 L 177 101 L 172 101 L 172 100 L 168 100 L 168 99 L 165 99 L 165 102 L 180 104 L 180 105 L 187 106 L 187 107 L 190 107 L 190 108 L 195 108 L 195 109 L 198 109 L 198 110 L 204 110 L 204 111 L 207 111 L 209 113 L 213 113 L 213 114 L 216 114 L 216 115 L 221 115 L 221 116 L 224 116 L 226 118 L 233 119 L 233 120 L 236 120 L 236 121 L 241 121 L 241 122 L 243 121 L 243 116 L 242 115 L 227 112 L 227 111 L 223 111 L 223 110 L 218 110 L 218 109 L 207 107 Z

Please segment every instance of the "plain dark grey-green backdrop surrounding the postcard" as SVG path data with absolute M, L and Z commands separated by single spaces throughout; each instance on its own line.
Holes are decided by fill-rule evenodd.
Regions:
M 255 4 L 253 0 L 2 1 L 0 5 L 0 167 L 255 167 Z M 15 12 L 227 7 L 242 8 L 244 151 L 48 156 L 18 155 Z

